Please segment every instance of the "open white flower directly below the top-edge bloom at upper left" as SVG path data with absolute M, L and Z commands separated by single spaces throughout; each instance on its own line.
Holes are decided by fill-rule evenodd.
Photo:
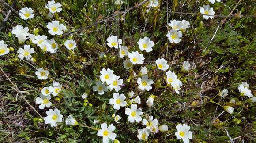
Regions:
M 49 30 L 48 32 L 51 34 L 51 35 L 62 35 L 63 34 L 63 27 L 64 25 L 63 24 L 60 24 L 60 21 L 52 21 L 51 22 L 48 22 L 48 25 L 46 26 Z

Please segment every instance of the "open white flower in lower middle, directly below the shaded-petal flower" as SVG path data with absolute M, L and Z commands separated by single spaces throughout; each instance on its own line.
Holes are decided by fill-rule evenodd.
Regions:
M 129 122 L 133 123 L 134 120 L 135 120 L 136 122 L 139 123 L 142 120 L 142 118 L 140 116 L 143 114 L 143 112 L 142 112 L 142 110 L 140 108 L 137 109 L 137 105 L 136 104 L 132 104 L 131 108 L 126 108 L 125 109 L 125 114 L 128 115 L 127 120 Z

